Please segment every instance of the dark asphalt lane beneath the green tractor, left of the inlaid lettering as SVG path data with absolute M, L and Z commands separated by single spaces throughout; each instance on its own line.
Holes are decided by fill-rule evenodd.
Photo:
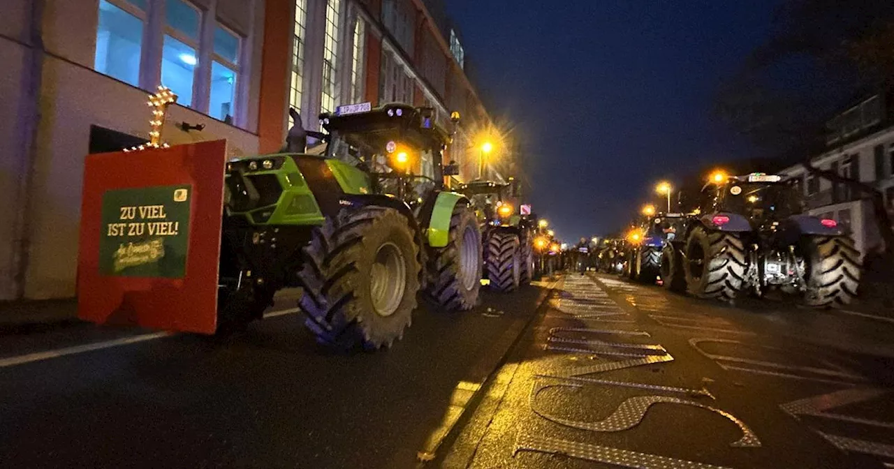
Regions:
M 0 467 L 413 467 L 546 292 L 420 308 L 378 353 L 317 346 L 298 314 L 223 343 L 92 325 L 0 337 Z

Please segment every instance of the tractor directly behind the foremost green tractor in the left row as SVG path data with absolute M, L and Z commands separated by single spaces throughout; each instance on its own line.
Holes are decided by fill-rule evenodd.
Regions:
M 485 275 L 491 289 L 510 292 L 537 274 L 534 243 L 536 215 L 518 205 L 519 180 L 472 180 L 460 191 L 471 201 L 484 234 Z

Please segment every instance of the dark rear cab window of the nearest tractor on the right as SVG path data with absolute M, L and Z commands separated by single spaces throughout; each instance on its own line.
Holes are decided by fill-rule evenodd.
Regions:
M 730 185 L 722 209 L 755 221 L 776 221 L 803 212 L 800 192 L 787 182 Z

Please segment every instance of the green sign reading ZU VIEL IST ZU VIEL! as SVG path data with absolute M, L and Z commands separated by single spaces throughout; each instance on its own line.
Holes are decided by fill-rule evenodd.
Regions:
M 186 274 L 190 185 L 106 190 L 99 272 L 179 279 Z

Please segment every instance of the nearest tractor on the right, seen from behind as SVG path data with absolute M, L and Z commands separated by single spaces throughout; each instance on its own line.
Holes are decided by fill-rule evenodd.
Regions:
M 662 252 L 664 287 L 721 300 L 779 289 L 806 306 L 848 304 L 861 275 L 854 241 L 803 208 L 797 180 L 715 173 L 679 242 Z

